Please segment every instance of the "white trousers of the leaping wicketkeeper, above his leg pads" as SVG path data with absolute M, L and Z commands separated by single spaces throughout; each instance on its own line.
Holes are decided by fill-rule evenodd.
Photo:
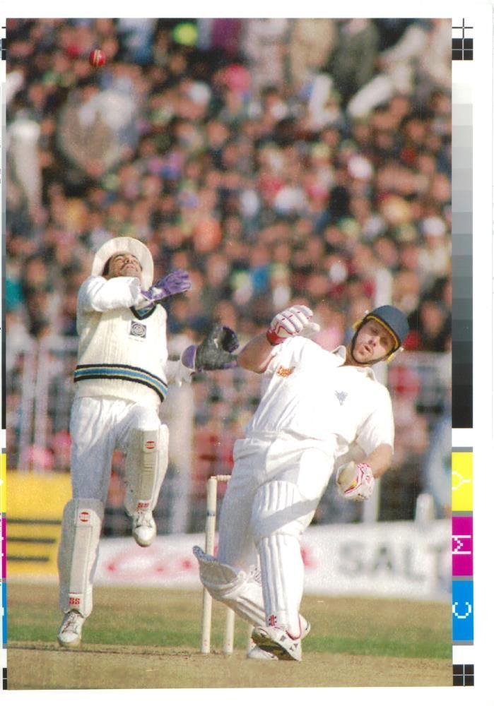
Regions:
M 70 421 L 73 498 L 105 504 L 115 448 L 127 453 L 132 429 L 159 428 L 158 407 L 113 397 L 76 397 Z

